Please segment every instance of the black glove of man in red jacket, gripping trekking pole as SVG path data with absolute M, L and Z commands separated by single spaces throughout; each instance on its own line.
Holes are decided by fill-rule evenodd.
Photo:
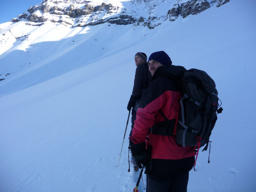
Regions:
M 134 144 L 132 140 L 130 140 L 130 151 L 131 154 L 138 165 L 139 168 L 142 168 L 142 165 L 146 165 L 147 163 L 147 150 L 146 148 L 146 142 Z

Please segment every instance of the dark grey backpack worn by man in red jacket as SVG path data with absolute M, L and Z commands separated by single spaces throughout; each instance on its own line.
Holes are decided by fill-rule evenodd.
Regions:
M 176 142 L 207 150 L 211 132 L 217 121 L 218 91 L 213 79 L 202 70 L 187 70 L 181 79 L 182 98 L 176 133 Z M 219 109 L 218 109 L 219 108 Z

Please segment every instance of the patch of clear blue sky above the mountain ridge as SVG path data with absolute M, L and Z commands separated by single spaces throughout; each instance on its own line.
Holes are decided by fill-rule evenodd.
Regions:
M 10 21 L 43 0 L 0 0 L 0 23 Z

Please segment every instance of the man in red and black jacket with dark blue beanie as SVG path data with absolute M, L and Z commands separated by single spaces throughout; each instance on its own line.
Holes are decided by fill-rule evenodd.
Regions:
M 181 90 L 166 74 L 179 78 L 186 69 L 171 64 L 164 51 L 150 55 L 148 65 L 152 80 L 143 92 L 132 136 L 129 137 L 130 150 L 137 165 L 140 168 L 141 164 L 146 165 L 147 192 L 187 192 L 189 171 L 196 155 L 194 147 L 177 144 L 175 136 L 150 131 L 154 128 L 158 132 L 167 124 L 175 126 L 178 118 Z

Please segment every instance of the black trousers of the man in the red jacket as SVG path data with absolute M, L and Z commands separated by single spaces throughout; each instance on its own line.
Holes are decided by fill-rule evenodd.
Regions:
M 146 167 L 146 192 L 187 192 L 194 157 L 181 160 L 152 159 Z

